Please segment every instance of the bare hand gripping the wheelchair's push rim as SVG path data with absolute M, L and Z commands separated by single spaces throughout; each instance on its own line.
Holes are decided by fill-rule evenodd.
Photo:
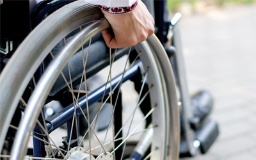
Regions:
M 109 48 L 122 48 L 143 42 L 154 33 L 154 19 L 143 2 L 132 12 L 115 15 L 105 12 L 112 29 L 102 31 L 102 36 Z

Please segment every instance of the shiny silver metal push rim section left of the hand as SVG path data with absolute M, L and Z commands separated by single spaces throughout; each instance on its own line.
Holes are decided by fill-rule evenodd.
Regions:
M 41 106 L 44 105 L 45 99 L 47 98 L 48 93 L 51 91 L 51 88 L 59 76 L 61 69 L 65 67 L 71 56 L 75 54 L 75 52 L 81 48 L 85 42 L 90 40 L 91 36 L 97 35 L 109 27 L 110 25 L 108 20 L 102 19 L 94 24 L 91 24 L 88 26 L 88 28 L 84 28 L 82 31 L 77 33 L 77 35 L 74 36 L 74 38 L 72 38 L 72 40 L 70 40 L 70 42 L 63 47 L 63 49 L 61 49 L 58 56 L 54 58 L 54 63 L 49 65 L 51 70 L 45 70 L 44 76 L 42 76 L 38 82 L 38 87 L 36 87 L 34 90 L 34 94 L 31 96 L 31 100 L 29 100 L 28 106 L 26 107 L 24 114 L 28 116 L 24 116 L 20 122 L 22 125 L 19 125 L 19 131 L 17 132 L 17 137 L 11 152 L 11 159 L 22 159 L 22 157 L 24 157 L 29 135 L 33 129 L 33 126 L 35 125 L 35 121 L 33 120 L 38 117 Z M 28 128 L 30 130 L 28 130 Z M 17 150 L 19 151 L 17 152 Z

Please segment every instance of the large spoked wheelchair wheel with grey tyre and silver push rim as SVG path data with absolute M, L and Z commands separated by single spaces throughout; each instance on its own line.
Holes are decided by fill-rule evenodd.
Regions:
M 72 56 L 79 49 L 81 49 L 81 47 L 83 47 L 84 43 L 88 43 L 88 41 L 90 41 L 93 36 L 110 27 L 108 21 L 106 19 L 102 19 L 102 17 L 102 13 L 97 6 L 86 4 L 83 1 L 76 1 L 74 3 L 70 3 L 67 6 L 61 8 L 60 10 L 52 13 L 52 15 L 49 15 L 49 17 L 47 17 L 47 19 L 45 19 L 40 25 L 38 25 L 26 38 L 26 40 L 22 42 L 17 51 L 15 51 L 15 54 L 12 56 L 12 59 L 8 62 L 0 76 L 0 150 L 4 150 L 4 140 L 6 139 L 6 134 L 8 134 L 9 127 L 15 128 L 15 126 L 10 124 L 18 104 L 21 103 L 22 105 L 24 105 L 25 111 L 24 115 L 22 116 L 22 120 L 20 121 L 18 127 L 19 129 L 14 137 L 15 140 L 12 145 L 11 154 L 1 154 L 1 157 L 8 157 L 10 159 L 36 159 L 36 157 L 26 156 L 28 152 L 28 140 L 29 137 L 31 137 L 31 132 L 34 130 L 35 125 L 39 128 L 40 131 L 42 131 L 42 133 L 44 132 L 46 136 L 44 136 L 45 146 L 41 146 L 41 148 L 39 149 L 38 146 L 34 146 L 33 149 L 45 150 L 45 152 L 47 152 L 47 157 L 51 157 L 52 154 L 57 153 L 55 156 L 51 157 L 51 159 L 82 159 L 84 157 L 87 157 L 87 159 L 102 159 L 104 157 L 108 157 L 109 159 L 115 159 L 113 157 L 115 157 L 115 152 L 117 152 L 118 147 L 123 147 L 125 150 L 124 145 L 126 141 L 129 140 L 130 136 L 136 133 L 136 130 L 130 131 L 129 124 L 127 125 L 129 127 L 129 132 L 127 134 L 124 134 L 123 137 L 120 138 L 120 140 L 122 141 L 122 143 L 120 143 L 120 146 L 115 146 L 113 144 L 113 141 L 117 141 L 115 138 L 116 135 L 114 133 L 111 133 L 114 127 L 108 127 L 109 134 L 113 135 L 113 140 L 112 142 L 110 141 L 110 144 L 113 144 L 111 146 L 112 148 L 110 147 L 111 149 L 107 150 L 107 148 L 105 148 L 105 145 L 108 145 L 109 143 L 107 144 L 106 141 L 102 141 L 100 140 L 100 138 L 97 137 L 97 140 L 100 143 L 99 148 L 102 147 L 102 149 L 96 154 L 93 152 L 90 140 L 91 137 L 97 134 L 97 131 L 94 131 L 95 127 L 93 127 L 93 122 L 89 119 L 90 116 L 86 116 L 83 111 L 87 111 L 88 114 L 90 113 L 89 106 L 93 106 L 95 102 L 93 102 L 93 104 L 90 104 L 89 99 L 91 97 L 94 98 L 95 94 L 93 95 L 94 92 L 85 93 L 86 108 L 81 109 L 81 106 L 79 106 L 81 100 L 79 101 L 79 96 L 76 97 L 73 92 L 72 78 L 68 80 L 68 78 L 63 75 L 63 68 L 68 66 L 68 76 L 70 76 L 70 67 L 69 65 L 67 65 L 67 63 L 68 61 L 70 61 L 70 58 L 72 58 Z M 86 26 L 84 29 L 82 29 L 81 32 L 73 36 L 72 39 L 69 40 L 67 44 L 65 44 L 63 49 L 61 49 L 58 54 L 52 55 L 52 49 L 56 47 L 56 45 L 58 45 L 60 41 L 68 35 L 68 33 L 74 31 L 74 29 L 77 29 L 88 22 L 93 23 L 89 26 Z M 90 44 L 88 45 L 88 52 L 90 52 L 89 49 Z M 147 116 L 150 116 L 152 118 L 152 123 L 150 125 L 151 127 L 148 128 L 153 129 L 152 141 L 150 141 L 150 153 L 148 154 L 148 157 L 150 157 L 150 159 L 178 159 L 180 129 L 179 111 L 177 108 L 177 97 L 172 67 L 163 47 L 154 35 L 149 37 L 146 42 L 141 42 L 140 44 L 134 46 L 134 49 L 137 54 L 140 55 L 141 62 L 132 62 L 133 65 L 129 67 L 129 70 L 131 72 L 133 72 L 132 69 L 135 70 L 135 68 L 140 70 L 140 74 L 142 74 L 143 77 L 142 86 L 145 86 L 147 84 L 149 88 L 148 95 L 150 97 L 151 106 L 148 106 L 149 111 L 146 116 L 143 117 L 143 119 L 147 118 Z M 83 49 L 82 51 L 84 52 Z M 47 65 L 44 73 L 37 81 L 34 77 L 35 72 L 42 64 L 42 61 L 47 58 L 47 55 L 49 55 L 49 53 L 51 53 L 50 56 L 53 57 L 52 61 Z M 109 53 L 109 55 L 112 55 L 111 52 Z M 86 56 L 86 52 L 84 52 L 84 56 Z M 109 58 L 109 63 L 113 63 L 113 57 Z M 84 62 L 81 63 L 81 65 L 83 65 L 82 68 L 84 69 L 85 64 L 86 58 Z M 106 95 L 107 97 L 109 95 L 111 108 L 113 108 L 111 109 L 112 118 L 109 121 L 109 124 L 111 126 L 113 126 L 114 124 L 112 112 L 115 108 L 115 102 L 112 102 L 112 93 L 118 92 L 118 88 L 116 89 L 115 86 L 120 86 L 122 84 L 122 81 L 125 81 L 125 74 L 129 74 L 129 70 L 125 71 L 125 73 L 120 75 L 121 79 L 119 81 L 114 81 L 115 79 L 109 80 L 109 83 L 106 85 L 109 90 L 104 90 L 104 93 L 102 93 L 103 98 L 100 98 L 100 100 L 105 100 Z M 86 83 L 86 80 L 84 81 L 84 79 L 86 79 L 87 72 L 86 74 L 84 74 L 85 72 L 86 70 L 82 72 L 82 76 L 80 75 L 80 77 L 82 79 L 81 82 Z M 111 79 L 111 71 L 109 72 L 109 79 Z M 82 110 L 81 115 L 84 116 L 84 118 L 88 122 L 90 122 L 90 125 L 88 125 L 88 143 L 82 140 L 82 143 L 84 142 L 85 144 L 80 145 L 81 141 L 79 141 L 79 138 L 77 138 L 77 145 L 75 146 L 68 145 L 68 148 L 65 149 L 58 147 L 57 145 L 55 145 L 54 140 L 52 140 L 51 134 L 48 134 L 48 132 L 51 131 L 51 129 L 53 128 L 53 122 L 49 123 L 49 120 L 47 119 L 47 122 L 44 121 L 43 124 L 40 124 L 38 120 L 38 116 L 42 113 L 42 106 L 44 106 L 48 102 L 48 97 L 49 95 L 51 95 L 52 87 L 54 86 L 54 84 L 56 84 L 55 81 L 58 81 L 58 77 L 63 77 L 66 83 L 66 88 L 68 88 L 68 90 L 72 93 L 73 99 L 72 108 L 74 110 L 71 113 L 73 113 L 72 115 L 74 116 L 72 116 L 71 118 L 72 127 L 69 133 L 70 135 L 68 135 L 67 138 L 71 141 L 71 134 L 74 132 L 72 128 L 74 125 L 76 125 L 77 127 L 76 111 L 79 111 L 80 109 L 80 111 Z M 33 88 L 33 93 L 31 97 L 27 99 L 28 102 L 25 102 L 27 100 L 24 100 L 20 97 L 24 96 L 24 92 L 26 91 L 27 86 L 31 81 L 33 82 L 35 88 Z M 143 90 L 143 88 L 141 90 Z M 143 99 L 143 97 L 141 97 L 141 99 Z M 136 106 L 140 106 L 141 99 L 138 99 L 138 104 L 136 104 Z M 132 111 L 132 113 L 135 112 L 136 108 L 134 109 L 134 111 Z M 97 119 L 97 116 L 95 117 L 96 118 L 94 119 Z M 57 119 L 58 118 L 60 117 L 57 116 Z M 115 121 L 117 122 L 118 120 L 115 119 Z M 48 127 L 46 123 L 49 124 L 50 127 Z M 144 129 L 144 131 L 141 132 L 147 132 L 148 129 Z M 33 132 L 35 134 L 35 131 Z M 38 133 L 36 133 L 36 137 L 40 137 L 37 134 Z M 68 140 L 68 144 L 71 144 Z M 123 149 L 121 151 L 123 152 Z M 109 156 L 111 156 L 112 158 Z M 44 157 L 40 159 L 44 159 Z

